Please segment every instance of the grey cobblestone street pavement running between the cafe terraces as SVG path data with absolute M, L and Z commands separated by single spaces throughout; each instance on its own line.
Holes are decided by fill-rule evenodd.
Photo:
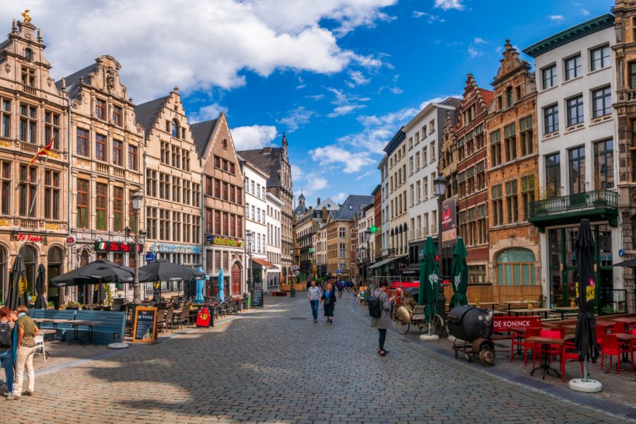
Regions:
M 334 324 L 314 324 L 302 295 L 267 298 L 278 305 L 214 329 L 41 370 L 35 396 L 0 399 L 0 423 L 628 422 L 392 333 L 381 358 L 377 331 L 348 296 Z

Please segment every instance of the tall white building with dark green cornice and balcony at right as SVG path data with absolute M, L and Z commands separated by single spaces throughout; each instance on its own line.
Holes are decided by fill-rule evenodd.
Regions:
M 524 50 L 535 58 L 537 81 L 539 187 L 529 221 L 541 232 L 543 294 L 550 306 L 575 299 L 577 260 L 573 252 L 579 222 L 588 218 L 598 263 L 599 309 L 623 288 L 618 259 L 618 167 L 613 86 L 616 42 L 611 15 L 600 16 Z M 606 299 L 609 297 L 609 300 Z

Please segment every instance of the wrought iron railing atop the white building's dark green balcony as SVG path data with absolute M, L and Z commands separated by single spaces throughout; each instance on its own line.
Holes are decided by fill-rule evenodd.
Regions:
M 530 203 L 530 216 L 543 216 L 550 213 L 565 213 L 591 208 L 618 208 L 618 193 L 602 189 L 594 192 L 583 192 L 533 201 Z

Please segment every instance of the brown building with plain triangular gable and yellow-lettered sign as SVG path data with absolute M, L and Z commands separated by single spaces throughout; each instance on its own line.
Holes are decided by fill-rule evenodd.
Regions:
M 226 296 L 242 295 L 245 286 L 243 173 L 225 114 L 190 125 L 203 164 L 204 270 L 206 296 L 216 297 L 223 269 Z

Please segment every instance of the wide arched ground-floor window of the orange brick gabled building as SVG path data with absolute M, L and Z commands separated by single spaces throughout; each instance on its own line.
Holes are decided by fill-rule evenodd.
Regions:
M 513 247 L 497 255 L 498 285 L 535 285 L 534 253 Z

